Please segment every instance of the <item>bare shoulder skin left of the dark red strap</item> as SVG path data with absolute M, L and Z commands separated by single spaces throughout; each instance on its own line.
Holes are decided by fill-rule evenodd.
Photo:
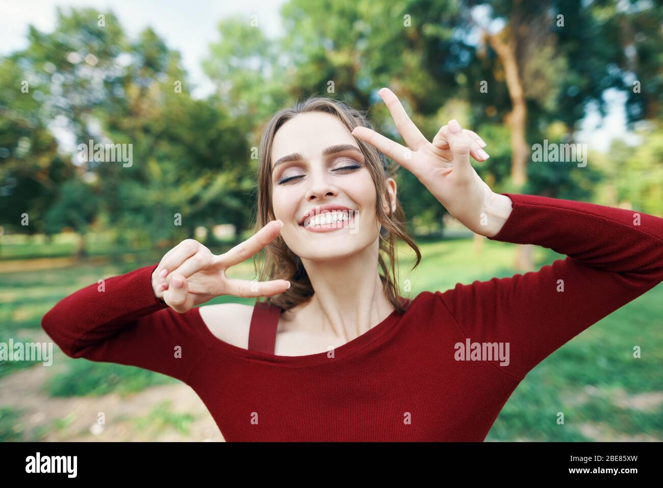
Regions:
M 210 332 L 223 342 L 247 349 L 253 306 L 221 303 L 200 307 L 200 316 Z

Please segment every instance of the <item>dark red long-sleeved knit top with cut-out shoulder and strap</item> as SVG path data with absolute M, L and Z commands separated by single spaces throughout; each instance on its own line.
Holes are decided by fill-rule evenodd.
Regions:
M 273 306 L 254 309 L 249 349 L 225 343 L 198 308 L 178 314 L 154 298 L 156 265 L 107 278 L 105 292 L 94 283 L 64 298 L 42 327 L 70 357 L 184 381 L 227 441 L 483 441 L 532 368 L 663 280 L 663 219 L 506 195 L 512 213 L 491 239 L 565 259 L 420 292 L 404 314 L 333 351 L 274 355 Z

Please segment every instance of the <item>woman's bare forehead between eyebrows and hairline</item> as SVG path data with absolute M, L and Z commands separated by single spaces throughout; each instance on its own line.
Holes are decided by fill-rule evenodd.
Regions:
M 300 113 L 276 131 L 272 141 L 272 164 L 292 153 L 318 156 L 326 147 L 337 144 L 357 145 L 338 117 L 325 112 Z

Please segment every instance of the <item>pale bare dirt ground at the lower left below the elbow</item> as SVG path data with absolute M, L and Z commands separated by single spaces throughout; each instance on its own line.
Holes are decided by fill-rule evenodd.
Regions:
M 34 339 L 48 341 L 43 335 Z M 56 373 L 58 365 L 36 365 L 0 379 L 0 406 L 24 410 L 25 440 L 223 442 L 210 412 L 184 383 L 151 387 L 124 398 L 117 393 L 52 398 L 43 386 Z M 170 424 L 162 425 L 164 415 L 152 413 L 158 408 L 167 408 L 176 417 L 193 416 L 188 434 Z M 105 415 L 103 425 L 97 422 L 99 412 Z M 38 430 L 45 430 L 45 436 L 36 438 Z

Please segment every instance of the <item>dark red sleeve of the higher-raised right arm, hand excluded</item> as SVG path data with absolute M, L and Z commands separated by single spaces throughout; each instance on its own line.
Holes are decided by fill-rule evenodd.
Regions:
M 536 244 L 568 257 L 536 273 L 457 284 L 435 294 L 471 341 L 509 342 L 510 363 L 499 369 L 522 379 L 572 337 L 663 280 L 663 219 L 503 195 L 512 200 L 511 214 L 489 239 Z

